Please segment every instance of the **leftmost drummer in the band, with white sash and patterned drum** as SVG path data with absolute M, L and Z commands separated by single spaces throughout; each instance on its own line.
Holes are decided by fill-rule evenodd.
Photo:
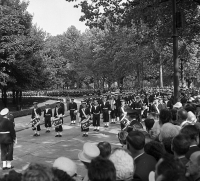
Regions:
M 38 103 L 33 103 L 33 110 L 31 114 L 32 129 L 35 132 L 33 136 L 40 136 L 40 116 L 42 115 L 41 109 L 38 107 Z

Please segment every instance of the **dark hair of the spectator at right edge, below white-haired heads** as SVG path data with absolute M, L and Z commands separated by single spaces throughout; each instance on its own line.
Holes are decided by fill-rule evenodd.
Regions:
M 180 131 L 181 134 L 188 135 L 190 138 L 190 144 L 194 142 L 199 143 L 199 130 L 195 125 L 187 125 Z

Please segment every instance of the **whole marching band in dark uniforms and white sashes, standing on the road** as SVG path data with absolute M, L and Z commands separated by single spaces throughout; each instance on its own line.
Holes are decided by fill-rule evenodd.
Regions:
M 181 94 L 181 102 L 186 103 L 188 98 L 185 94 Z M 83 101 L 78 108 L 74 98 L 68 106 L 69 115 L 71 118 L 71 126 L 76 125 L 76 120 L 81 127 L 83 137 L 88 137 L 89 127 L 93 126 L 93 131 L 99 132 L 101 126 L 101 119 L 105 128 L 109 127 L 109 124 L 120 123 L 121 129 L 127 126 L 129 123 L 128 115 L 130 112 L 138 115 L 138 122 L 141 122 L 143 118 L 147 118 L 149 113 L 159 114 L 161 109 L 172 109 L 173 95 L 168 94 L 133 94 L 133 93 L 108 93 L 102 96 L 83 96 Z M 63 131 L 63 117 L 65 116 L 65 110 L 61 102 L 58 101 L 54 108 L 54 114 L 49 104 L 45 105 L 44 109 L 44 123 L 46 133 L 49 133 L 52 127 L 55 127 L 55 137 L 62 137 Z M 31 124 L 34 130 L 33 136 L 40 136 L 40 119 L 41 109 L 37 107 L 37 102 L 34 102 L 34 109 L 31 115 Z

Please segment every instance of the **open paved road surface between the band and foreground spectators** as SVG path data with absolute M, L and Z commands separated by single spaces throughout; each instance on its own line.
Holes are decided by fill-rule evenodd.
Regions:
M 29 120 L 30 116 L 16 118 L 16 127 L 22 128 L 23 125 L 20 127 L 20 124 L 28 122 Z M 102 121 L 101 126 L 103 126 Z M 41 126 L 41 129 L 40 137 L 33 137 L 31 128 L 17 132 L 18 143 L 14 147 L 14 160 L 12 162 L 16 171 L 21 172 L 22 168 L 31 162 L 53 164 L 56 158 L 65 156 L 77 163 L 78 174 L 85 175 L 86 170 L 78 160 L 78 153 L 82 150 L 85 142 L 98 143 L 100 141 L 108 141 L 112 144 L 112 147 L 120 146 L 117 138 L 120 126 L 117 124 L 111 125 L 109 128 L 100 127 L 99 133 L 94 132 L 93 127 L 91 127 L 89 137 L 82 137 L 78 125 L 70 126 L 69 117 L 64 118 L 63 137 L 61 138 L 55 137 L 55 131 L 53 129 L 50 133 L 45 132 L 44 125 Z M 2 162 L 0 164 L 1 166 Z M 4 174 L 6 171 L 2 171 L 0 168 L 0 175 L 1 173 Z

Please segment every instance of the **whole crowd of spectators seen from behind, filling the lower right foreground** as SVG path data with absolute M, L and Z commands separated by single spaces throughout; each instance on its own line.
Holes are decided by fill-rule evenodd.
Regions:
M 2 181 L 200 181 L 200 123 L 189 105 L 162 109 L 129 131 L 122 147 L 86 142 L 78 154 L 87 174 L 60 157 L 53 166 L 31 163 Z

